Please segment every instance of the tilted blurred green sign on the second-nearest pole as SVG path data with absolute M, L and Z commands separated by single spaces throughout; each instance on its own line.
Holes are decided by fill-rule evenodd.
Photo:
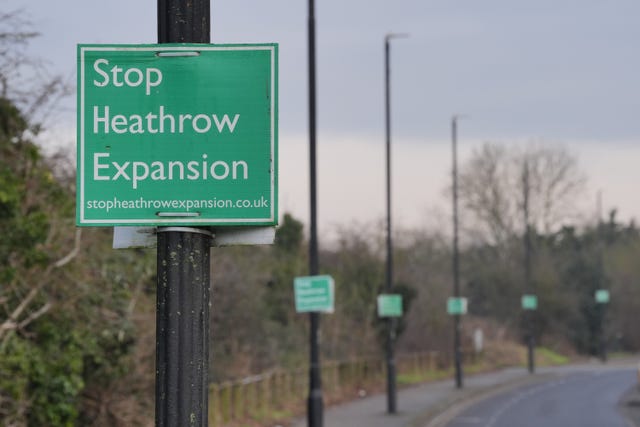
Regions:
M 293 291 L 298 313 L 333 313 L 335 291 L 331 276 L 296 277 Z

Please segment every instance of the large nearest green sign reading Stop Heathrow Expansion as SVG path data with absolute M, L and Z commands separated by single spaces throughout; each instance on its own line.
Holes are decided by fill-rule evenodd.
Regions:
M 278 46 L 78 45 L 78 225 L 275 225 Z

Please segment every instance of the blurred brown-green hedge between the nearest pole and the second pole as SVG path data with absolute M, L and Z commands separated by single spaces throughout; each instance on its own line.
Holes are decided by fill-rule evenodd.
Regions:
M 302 223 L 285 214 L 271 248 L 213 250 L 211 379 L 300 365 L 304 322 L 293 279 L 306 273 Z

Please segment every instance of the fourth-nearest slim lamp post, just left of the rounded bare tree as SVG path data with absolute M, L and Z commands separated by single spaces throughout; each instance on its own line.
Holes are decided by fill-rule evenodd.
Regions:
M 460 298 L 460 265 L 458 252 L 458 116 L 451 119 L 451 151 L 453 157 L 453 296 Z M 462 388 L 462 351 L 460 349 L 460 314 L 453 315 L 453 355 L 456 387 Z

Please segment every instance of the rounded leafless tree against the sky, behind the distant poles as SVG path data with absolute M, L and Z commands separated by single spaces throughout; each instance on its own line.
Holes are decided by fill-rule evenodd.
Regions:
M 575 202 L 585 182 L 576 156 L 563 147 L 531 144 L 507 148 L 485 143 L 461 168 L 464 228 L 473 238 L 492 244 L 521 234 L 526 228 L 523 209 L 527 194 L 530 226 L 551 232 L 574 217 Z

